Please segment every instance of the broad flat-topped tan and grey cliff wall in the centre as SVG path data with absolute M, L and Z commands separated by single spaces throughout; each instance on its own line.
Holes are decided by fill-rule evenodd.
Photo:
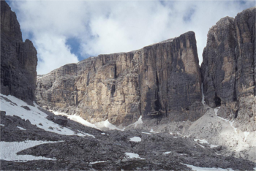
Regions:
M 129 53 L 99 55 L 38 77 L 42 107 L 123 126 L 143 118 L 195 121 L 203 114 L 195 33 Z

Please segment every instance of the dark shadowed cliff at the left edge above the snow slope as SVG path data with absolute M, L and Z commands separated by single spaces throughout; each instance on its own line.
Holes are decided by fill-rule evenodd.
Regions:
M 0 93 L 34 100 L 37 82 L 37 50 L 22 40 L 15 12 L 0 0 Z

